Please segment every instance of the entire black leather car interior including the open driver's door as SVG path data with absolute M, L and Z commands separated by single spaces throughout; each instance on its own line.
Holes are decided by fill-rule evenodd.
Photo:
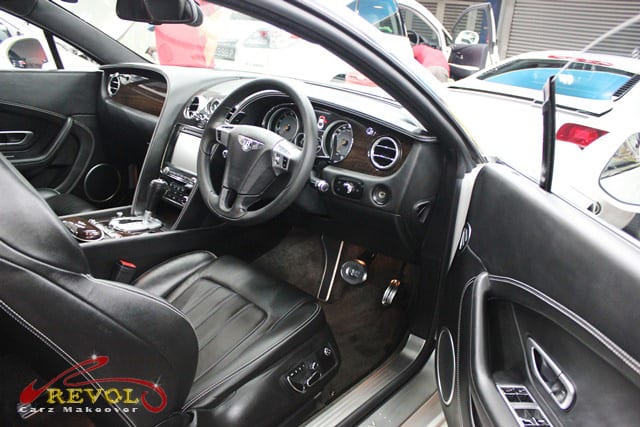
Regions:
M 313 29 L 396 100 L 144 63 L 52 2 L 0 2 L 101 64 L 0 70 L 6 425 L 353 425 L 427 361 L 450 425 L 634 424 L 638 246 L 486 163 L 339 21 L 219 3 Z M 20 397 L 97 356 L 86 379 L 154 383 L 127 386 L 139 410 Z

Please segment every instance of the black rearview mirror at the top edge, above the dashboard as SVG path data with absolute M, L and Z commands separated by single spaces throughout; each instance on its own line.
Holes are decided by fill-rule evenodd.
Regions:
M 202 11 L 194 0 L 118 0 L 116 13 L 127 21 L 150 24 L 202 23 Z

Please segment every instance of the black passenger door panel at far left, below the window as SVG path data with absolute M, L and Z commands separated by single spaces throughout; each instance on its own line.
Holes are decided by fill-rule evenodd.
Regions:
M 81 193 L 78 183 L 95 162 L 91 123 L 100 78 L 99 72 L 0 71 L 0 152 L 35 187 Z

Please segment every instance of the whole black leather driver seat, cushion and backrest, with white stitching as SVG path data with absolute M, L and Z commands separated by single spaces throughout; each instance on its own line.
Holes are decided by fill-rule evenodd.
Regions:
M 90 414 L 97 425 L 278 425 L 315 408 L 339 364 L 315 300 L 238 259 L 208 252 L 169 260 L 134 286 L 98 280 L 79 244 L 2 155 L 0 182 L 3 353 L 38 375 L 26 375 L 20 387 L 36 379 L 37 389 L 71 366 L 108 356 L 108 364 L 87 368 L 84 378 L 94 388 L 131 389 L 131 398 L 99 399 L 93 406 L 103 410 Z M 309 371 L 314 380 L 294 381 L 302 384 L 296 390 L 296 368 L 306 373 L 311 361 L 319 362 Z M 101 383 L 105 378 L 122 384 Z M 5 403 L 2 408 L 12 407 Z M 22 403 L 48 405 L 44 395 Z M 80 406 L 91 405 L 85 399 Z

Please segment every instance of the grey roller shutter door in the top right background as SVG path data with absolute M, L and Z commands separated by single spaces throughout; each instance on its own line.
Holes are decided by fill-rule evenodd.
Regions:
M 516 0 L 507 56 L 534 50 L 581 50 L 640 13 L 638 0 Z M 640 24 L 594 51 L 629 56 L 640 46 Z

